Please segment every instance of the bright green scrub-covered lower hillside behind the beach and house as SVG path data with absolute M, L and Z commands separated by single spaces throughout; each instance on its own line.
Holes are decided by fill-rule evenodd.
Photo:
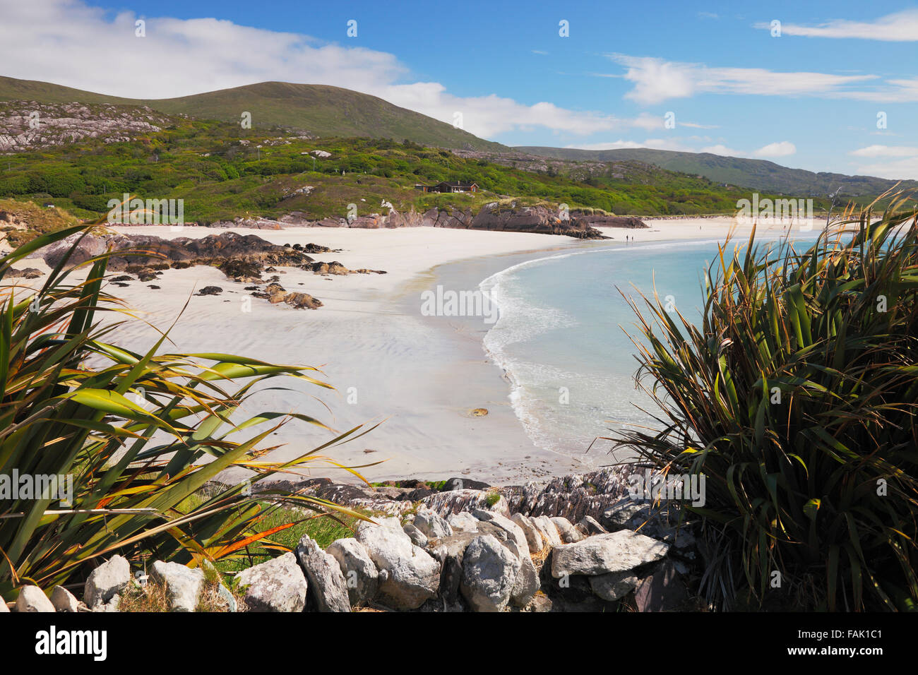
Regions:
M 127 109 L 127 108 L 122 108 Z M 99 139 L 7 154 L 0 162 L 0 197 L 50 199 L 81 218 L 97 217 L 124 193 L 144 199 L 182 198 L 185 220 L 308 219 L 440 207 L 480 208 L 514 199 L 521 205 L 566 203 L 620 215 L 733 212 L 738 191 L 697 176 L 644 163 L 618 163 L 578 175 L 526 170 L 465 157 L 411 141 L 323 138 L 283 129 L 264 133 L 216 120 L 174 117 L 161 131 L 134 141 Z M 259 148 L 258 146 L 262 146 Z M 329 152 L 314 157 L 313 151 Z M 475 181 L 475 195 L 425 194 L 416 183 Z

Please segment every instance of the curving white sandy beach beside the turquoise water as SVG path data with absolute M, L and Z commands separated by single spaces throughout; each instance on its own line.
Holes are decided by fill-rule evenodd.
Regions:
M 462 321 L 421 317 L 420 291 L 436 283 L 446 264 L 465 264 L 468 271 L 464 274 L 469 278 L 464 286 L 473 290 L 486 276 L 527 256 L 608 246 L 624 242 L 626 235 L 638 243 L 722 239 L 733 219 L 651 220 L 648 224 L 649 230 L 605 231 L 612 242 L 433 228 L 237 230 L 279 244 L 312 242 L 341 249 L 340 253 L 311 257 L 336 260 L 352 269 L 386 270 L 386 275 L 325 277 L 279 268 L 280 283 L 288 291 L 306 292 L 324 303 L 316 310 L 271 305 L 258 298 L 246 300 L 248 291 L 243 284 L 203 266 L 166 270 L 159 281 L 150 282 L 160 286 L 158 290 L 136 281 L 109 290 L 136 308 L 140 318 L 161 329 L 172 324 L 188 301 L 185 314 L 170 333 L 174 343 L 170 349 L 247 354 L 320 367 L 337 392 L 291 381 L 286 384 L 294 390 L 259 394 L 245 412 L 300 411 L 341 431 L 382 421 L 374 432 L 327 451 L 348 466 L 385 460 L 361 469 L 370 480 L 467 476 L 495 483 L 521 482 L 592 465 L 532 444 L 509 405 L 507 382 L 483 351 L 481 336 L 487 327 L 470 329 Z M 118 231 L 173 238 L 203 237 L 223 230 L 119 227 Z M 771 235 L 780 231 L 774 228 Z M 748 228 L 741 228 L 736 236 L 745 242 Z M 17 266 L 42 265 L 29 260 Z M 455 269 L 459 268 L 453 272 Z M 222 287 L 224 292 L 194 295 L 205 286 Z M 245 310 L 247 306 L 251 311 Z M 134 321 L 120 329 L 119 338 L 126 346 L 143 351 L 157 334 L 143 321 Z M 330 411 L 309 395 L 322 399 Z M 476 408 L 486 408 L 489 414 L 473 416 L 471 411 Z M 291 422 L 272 437 L 272 444 L 283 445 L 272 458 L 291 458 L 329 439 L 328 433 L 315 427 Z M 328 467 L 317 467 L 315 475 L 353 480 L 340 469 Z

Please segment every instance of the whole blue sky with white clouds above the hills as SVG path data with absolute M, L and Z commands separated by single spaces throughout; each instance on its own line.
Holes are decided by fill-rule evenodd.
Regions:
M 143 35 L 138 35 L 138 21 Z M 333 84 L 508 145 L 918 179 L 918 4 L 0 0 L 0 74 L 136 98 Z

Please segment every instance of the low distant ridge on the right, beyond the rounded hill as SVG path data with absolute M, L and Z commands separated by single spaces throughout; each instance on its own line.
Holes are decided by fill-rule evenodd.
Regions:
M 826 197 L 839 187 L 846 196 L 879 195 L 898 181 L 868 175 L 814 174 L 803 169 L 789 169 L 766 160 L 722 157 L 709 152 L 673 152 L 647 148 L 621 150 L 577 150 L 520 146 L 520 152 L 576 162 L 622 162 L 638 160 L 669 171 L 702 175 L 716 183 L 748 187 L 787 195 Z M 918 188 L 918 181 L 902 181 L 901 187 Z

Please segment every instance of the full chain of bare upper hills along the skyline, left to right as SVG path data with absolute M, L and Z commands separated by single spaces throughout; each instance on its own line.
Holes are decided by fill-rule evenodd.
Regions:
M 369 96 L 320 84 L 263 82 L 232 89 L 178 98 L 136 99 L 106 96 L 35 80 L 0 76 L 0 101 L 25 100 L 46 104 L 80 102 L 146 106 L 169 115 L 239 122 L 243 112 L 252 114 L 252 127 L 302 129 L 319 137 L 368 137 L 414 141 L 425 146 L 488 155 L 525 153 L 584 163 L 638 161 L 668 171 L 699 175 L 725 186 L 794 196 L 826 197 L 841 188 L 846 197 L 877 196 L 896 181 L 863 175 L 813 173 L 789 169 L 766 160 L 722 157 L 707 152 L 672 152 L 646 148 L 577 150 L 542 146 L 509 148 L 456 129 L 451 124 L 397 107 Z M 515 159 L 515 158 L 514 158 Z M 590 172 L 595 173 L 595 172 Z M 918 189 L 918 181 L 902 187 Z

